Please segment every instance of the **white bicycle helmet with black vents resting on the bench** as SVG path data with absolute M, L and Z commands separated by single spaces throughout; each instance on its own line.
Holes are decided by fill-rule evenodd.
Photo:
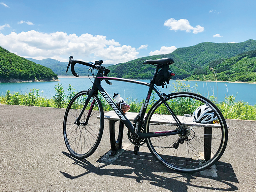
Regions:
M 217 119 L 214 111 L 205 104 L 197 107 L 193 113 L 193 121 L 196 123 L 212 123 Z

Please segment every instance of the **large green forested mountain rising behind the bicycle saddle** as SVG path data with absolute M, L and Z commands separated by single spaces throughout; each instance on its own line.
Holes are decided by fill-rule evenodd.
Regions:
M 175 73 L 176 78 L 188 78 L 193 74 L 210 74 L 212 72 L 209 70 L 209 63 L 252 50 L 256 50 L 256 41 L 252 39 L 241 43 L 203 42 L 190 47 L 178 48 L 170 54 L 148 56 L 110 66 L 108 67 L 111 70 L 109 76 L 152 78 L 155 67 L 152 65 L 142 65 L 142 62 L 148 59 L 165 57 L 171 57 L 174 60 L 175 63 L 170 65 L 170 69 Z

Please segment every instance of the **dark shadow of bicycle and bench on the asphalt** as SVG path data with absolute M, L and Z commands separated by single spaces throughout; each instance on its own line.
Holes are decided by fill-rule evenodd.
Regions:
M 138 183 L 150 181 L 151 185 L 171 191 L 187 191 L 188 186 L 219 191 L 234 191 L 238 189 L 233 184 L 238 183 L 238 180 L 229 163 L 217 162 L 218 177 L 214 178 L 201 175 L 200 172 L 180 173 L 173 171 L 160 164 L 151 153 L 148 152 L 139 152 L 139 155 L 134 155 L 133 151 L 125 151 L 111 163 L 104 162 L 102 158 L 100 158 L 97 161 L 100 163 L 99 166 L 93 165 L 86 159 L 75 159 L 69 153 L 62 153 L 72 159 L 74 165 L 81 166 L 86 170 L 84 173 L 74 176 L 71 173 L 60 171 L 69 179 L 83 177 L 88 173 L 95 173 L 98 175 L 130 178 Z M 108 165 L 120 165 L 120 167 L 115 166 L 115 168 L 108 168 Z

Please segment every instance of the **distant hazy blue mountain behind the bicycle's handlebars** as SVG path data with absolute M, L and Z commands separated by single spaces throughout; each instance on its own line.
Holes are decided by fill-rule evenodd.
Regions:
M 27 58 L 30 61 L 33 61 L 37 64 L 40 64 L 42 66 L 48 67 L 50 69 L 53 70 L 54 73 L 56 73 L 57 75 L 72 75 L 70 69 L 69 71 L 66 73 L 67 70 L 67 65 L 68 62 L 60 62 L 56 59 L 42 59 L 42 60 L 36 60 L 36 59 L 32 59 L 32 58 Z M 104 65 L 105 67 L 111 66 L 111 65 Z M 76 64 L 75 65 L 75 72 L 77 72 L 79 75 L 88 75 L 88 69 L 90 67 L 84 66 L 84 65 L 80 65 L 80 64 Z M 89 71 L 89 75 L 91 75 L 90 71 Z

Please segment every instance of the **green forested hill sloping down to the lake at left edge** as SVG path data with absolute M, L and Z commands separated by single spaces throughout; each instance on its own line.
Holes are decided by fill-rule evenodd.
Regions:
M 57 78 L 51 69 L 10 53 L 0 46 L 0 82 L 52 81 Z

